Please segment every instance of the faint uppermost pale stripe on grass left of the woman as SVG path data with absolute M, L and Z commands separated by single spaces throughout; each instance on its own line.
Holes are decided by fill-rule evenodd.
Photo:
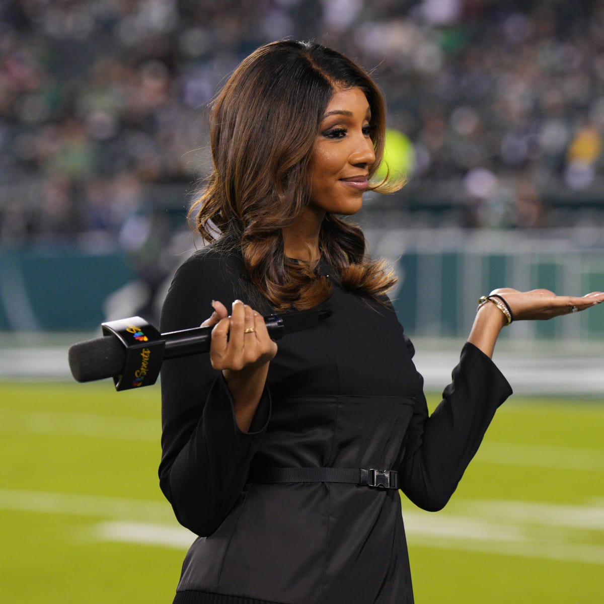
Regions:
M 0 411 L 0 432 L 68 434 L 103 439 L 159 442 L 159 419 L 112 417 L 92 413 L 18 413 Z

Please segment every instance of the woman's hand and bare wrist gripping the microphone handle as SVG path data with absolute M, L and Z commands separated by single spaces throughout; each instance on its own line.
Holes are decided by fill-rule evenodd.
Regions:
M 269 362 L 277 354 L 277 343 L 268 335 L 259 312 L 240 300 L 233 302 L 228 316 L 224 304 L 212 303 L 214 312 L 202 326 L 214 326 L 210 344 L 212 367 L 221 370 L 233 397 L 237 425 L 247 432 L 262 397 Z

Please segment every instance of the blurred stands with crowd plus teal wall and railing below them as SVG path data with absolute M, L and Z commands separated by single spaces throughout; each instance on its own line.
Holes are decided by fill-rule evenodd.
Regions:
M 210 168 L 207 103 L 243 57 L 284 36 L 356 57 L 384 89 L 388 161 L 409 182 L 368 195 L 358 220 L 399 271 L 394 298 L 411 333 L 463 335 L 474 301 L 501 283 L 589 291 L 604 274 L 601 2 L 0 10 L 0 330 L 156 321 L 194 247 L 185 214 Z M 70 283 L 77 297 L 65 297 Z M 604 324 L 523 335 L 539 329 L 582 338 Z

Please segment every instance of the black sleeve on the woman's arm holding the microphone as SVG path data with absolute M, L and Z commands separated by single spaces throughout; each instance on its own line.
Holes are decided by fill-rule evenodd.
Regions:
M 215 254 L 194 254 L 172 281 L 161 332 L 199 326 L 211 315 L 212 300 L 230 308 L 240 270 Z M 164 361 L 161 396 L 159 485 L 182 525 L 210 535 L 242 492 L 266 431 L 270 395 L 265 388 L 249 432 L 242 432 L 222 372 L 211 366 L 210 355 L 200 354 Z

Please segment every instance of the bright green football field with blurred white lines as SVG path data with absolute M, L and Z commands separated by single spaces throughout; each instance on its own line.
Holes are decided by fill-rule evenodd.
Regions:
M 0 382 L 0 430 L 0 602 L 171 602 L 159 388 Z M 603 602 L 603 434 L 602 400 L 513 397 L 445 510 L 402 496 L 416 602 Z

